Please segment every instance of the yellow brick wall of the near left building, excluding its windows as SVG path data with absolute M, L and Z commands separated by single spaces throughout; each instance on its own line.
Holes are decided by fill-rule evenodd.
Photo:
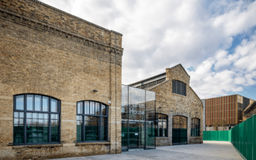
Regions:
M 122 54 L 120 33 L 36 1 L 0 1 L 0 159 L 120 153 Z M 22 93 L 61 100 L 63 143 L 12 146 L 13 95 Z M 111 100 L 109 143 L 74 143 L 76 102 L 81 100 Z

